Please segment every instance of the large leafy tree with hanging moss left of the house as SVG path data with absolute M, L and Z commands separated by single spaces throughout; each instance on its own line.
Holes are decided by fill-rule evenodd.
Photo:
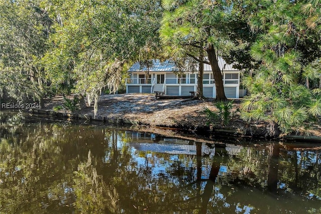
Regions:
M 55 2 L 52 17 L 57 17 L 54 44 L 45 62 L 52 82 L 61 84 L 71 74 L 73 92 L 94 99 L 107 87 L 115 93 L 126 66 L 146 57 L 146 49 L 157 50 L 161 5 L 154 1 L 66 1 Z M 58 19 L 59 18 L 59 19 Z M 55 56 L 55 57 L 51 57 Z M 55 70 L 49 65 L 55 66 Z M 60 75 L 56 75 L 56 73 Z M 57 79 L 62 76 L 63 78 Z

